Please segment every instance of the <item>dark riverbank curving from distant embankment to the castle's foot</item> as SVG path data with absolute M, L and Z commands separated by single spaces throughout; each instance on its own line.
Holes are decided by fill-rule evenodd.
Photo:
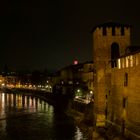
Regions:
M 65 111 L 67 116 L 74 119 L 75 124 L 80 128 L 83 135 L 88 138 L 86 140 L 124 140 L 112 127 L 96 128 L 93 126 L 93 103 L 86 105 L 76 102 L 73 104 L 64 95 L 28 89 L 7 89 L 7 92 L 39 97 L 49 104 L 54 105 L 59 110 Z

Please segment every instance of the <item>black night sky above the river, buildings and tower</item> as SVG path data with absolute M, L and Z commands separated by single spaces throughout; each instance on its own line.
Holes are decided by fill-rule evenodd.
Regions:
M 132 3 L 133 2 L 133 3 Z M 140 44 L 138 0 L 4 0 L 0 2 L 0 69 L 58 70 L 92 60 L 94 26 L 116 21 L 133 26 Z

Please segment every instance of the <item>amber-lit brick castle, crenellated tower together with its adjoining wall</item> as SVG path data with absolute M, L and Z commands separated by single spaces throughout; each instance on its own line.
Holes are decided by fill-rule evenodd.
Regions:
M 93 29 L 94 115 L 96 126 L 112 124 L 134 137 L 140 135 L 140 53 L 130 46 L 130 33 L 130 25 L 113 22 Z

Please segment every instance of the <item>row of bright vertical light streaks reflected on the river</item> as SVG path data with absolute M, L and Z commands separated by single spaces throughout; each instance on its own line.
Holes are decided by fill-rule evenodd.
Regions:
M 6 111 L 7 109 L 10 111 L 11 108 L 24 109 L 29 112 L 53 111 L 52 106 L 39 98 L 21 94 L 0 93 L 0 119 L 7 117 Z

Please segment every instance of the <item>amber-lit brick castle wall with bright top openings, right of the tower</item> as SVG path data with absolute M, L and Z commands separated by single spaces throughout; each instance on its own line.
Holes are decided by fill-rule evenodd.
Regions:
M 118 67 L 111 70 L 111 91 L 107 98 L 107 120 L 119 125 L 121 129 L 124 125 L 124 131 L 129 135 L 133 133 L 140 135 L 139 69 L 140 53 L 137 53 L 118 59 Z M 125 81 L 126 73 L 127 81 Z

